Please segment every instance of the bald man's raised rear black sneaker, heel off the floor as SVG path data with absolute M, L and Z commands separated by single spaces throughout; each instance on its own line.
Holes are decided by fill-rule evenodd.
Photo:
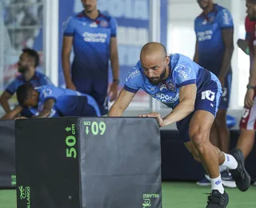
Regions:
M 243 157 L 242 150 L 233 149 L 230 151 L 230 154 L 238 162 L 238 167 L 234 170 L 229 170 L 229 172 L 238 186 L 238 189 L 246 191 L 250 187 L 250 175 L 247 173 L 245 168 L 245 159 Z

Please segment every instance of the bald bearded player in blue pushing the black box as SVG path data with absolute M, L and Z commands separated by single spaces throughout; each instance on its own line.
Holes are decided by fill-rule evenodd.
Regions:
M 241 152 L 225 154 L 210 143 L 210 128 L 222 94 L 214 74 L 182 54 L 168 56 L 162 44 L 149 42 L 142 47 L 140 61 L 126 78 L 109 116 L 122 116 L 139 89 L 173 109 L 165 118 L 156 112 L 140 116 L 157 118 L 161 127 L 177 122 L 186 148 L 210 175 L 212 193 L 206 207 L 226 207 L 229 202 L 218 166 L 230 170 L 240 190 L 249 188 L 250 175 Z

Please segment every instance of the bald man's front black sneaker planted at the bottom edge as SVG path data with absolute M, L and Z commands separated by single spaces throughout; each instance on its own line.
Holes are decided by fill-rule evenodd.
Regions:
M 208 196 L 206 208 L 225 208 L 229 203 L 229 195 L 221 194 L 218 190 L 212 190 L 211 194 Z

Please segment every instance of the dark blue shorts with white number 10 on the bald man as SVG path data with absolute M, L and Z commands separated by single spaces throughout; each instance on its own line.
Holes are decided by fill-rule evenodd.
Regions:
M 206 110 L 216 116 L 221 95 L 221 86 L 219 86 L 218 83 L 214 81 L 203 87 L 201 92 L 198 92 L 194 103 L 194 111 L 186 116 L 186 118 L 183 118 L 181 121 L 176 123 L 178 132 L 183 142 L 190 142 L 190 120 L 193 117 L 194 112 L 196 110 Z

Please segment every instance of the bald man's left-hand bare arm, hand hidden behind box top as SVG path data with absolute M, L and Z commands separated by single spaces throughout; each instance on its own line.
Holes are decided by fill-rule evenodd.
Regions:
M 134 96 L 135 96 L 134 93 L 131 93 L 122 89 L 120 94 L 118 95 L 117 100 L 114 102 L 113 106 L 111 106 L 108 116 L 109 117 L 122 116 L 123 112 L 129 106 Z

